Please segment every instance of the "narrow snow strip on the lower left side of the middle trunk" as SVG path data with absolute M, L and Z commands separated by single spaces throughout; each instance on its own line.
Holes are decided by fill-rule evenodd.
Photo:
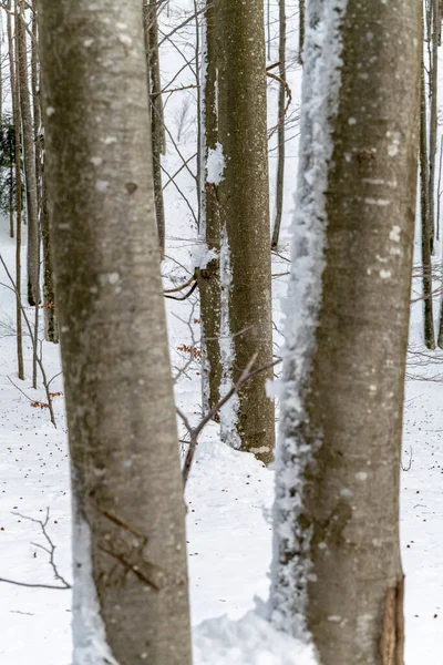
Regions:
M 233 367 L 235 362 L 235 346 L 230 331 L 229 321 L 229 291 L 233 284 L 233 270 L 230 267 L 230 248 L 226 227 L 222 231 L 220 238 L 220 285 L 222 285 L 222 309 L 220 309 L 220 362 L 222 381 L 219 388 L 220 399 L 225 397 L 233 387 Z M 222 441 L 233 448 L 240 448 L 241 440 L 237 431 L 237 416 L 239 408 L 238 395 L 235 393 L 220 410 L 220 436 Z

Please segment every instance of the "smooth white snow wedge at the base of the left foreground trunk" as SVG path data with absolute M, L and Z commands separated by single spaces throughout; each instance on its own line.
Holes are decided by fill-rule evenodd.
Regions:
M 100 602 L 92 576 L 91 531 L 74 502 L 73 665 L 119 665 L 106 642 Z

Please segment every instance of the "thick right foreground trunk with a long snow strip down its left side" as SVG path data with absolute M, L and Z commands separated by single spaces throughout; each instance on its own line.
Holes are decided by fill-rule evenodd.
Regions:
M 402 665 L 421 0 L 309 4 L 274 621 L 305 623 L 322 665 Z

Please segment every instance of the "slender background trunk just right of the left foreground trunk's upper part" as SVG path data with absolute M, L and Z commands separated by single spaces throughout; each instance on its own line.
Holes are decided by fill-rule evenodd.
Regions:
M 165 206 L 162 185 L 162 154 L 165 154 L 166 151 L 166 137 L 163 116 L 163 100 L 159 94 L 162 91 L 162 81 L 158 58 L 157 4 L 157 0 L 143 0 L 147 80 L 151 95 L 151 136 L 155 216 L 157 221 L 158 244 L 163 256 L 165 253 Z

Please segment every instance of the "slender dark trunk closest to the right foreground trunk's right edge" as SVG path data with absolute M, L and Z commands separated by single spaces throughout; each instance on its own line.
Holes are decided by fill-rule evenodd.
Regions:
M 424 85 L 424 63 L 422 62 L 420 104 L 420 214 L 422 231 L 423 330 L 424 344 L 429 349 L 434 349 L 435 339 L 432 305 L 431 221 L 427 164 L 426 93 Z

